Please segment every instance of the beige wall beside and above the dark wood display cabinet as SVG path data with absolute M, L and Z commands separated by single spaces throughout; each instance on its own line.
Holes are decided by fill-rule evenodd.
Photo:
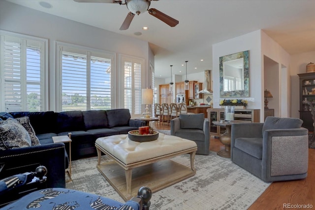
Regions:
M 290 77 L 291 77 L 291 117 L 300 118 L 300 87 L 298 73 L 306 73 L 306 65 L 315 63 L 315 51 L 301 53 L 291 56 Z

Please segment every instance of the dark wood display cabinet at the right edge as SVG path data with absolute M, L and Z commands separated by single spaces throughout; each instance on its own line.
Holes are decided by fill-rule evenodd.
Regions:
M 300 119 L 302 127 L 313 131 L 313 119 L 311 109 L 307 104 L 310 101 L 315 105 L 315 72 L 299 73 L 300 77 Z

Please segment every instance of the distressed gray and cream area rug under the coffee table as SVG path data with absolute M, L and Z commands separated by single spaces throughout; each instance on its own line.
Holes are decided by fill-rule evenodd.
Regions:
M 186 166 L 189 155 L 172 160 Z M 106 155 L 103 161 L 110 161 Z M 66 188 L 124 200 L 96 169 L 97 157 L 72 161 L 72 181 Z M 270 185 L 211 151 L 196 155 L 196 175 L 153 193 L 150 210 L 244 210 Z

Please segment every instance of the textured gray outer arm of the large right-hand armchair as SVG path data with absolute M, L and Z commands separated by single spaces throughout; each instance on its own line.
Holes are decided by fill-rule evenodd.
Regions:
M 305 174 L 308 170 L 308 130 L 265 130 L 262 142 L 262 174 L 265 180 L 273 176 Z

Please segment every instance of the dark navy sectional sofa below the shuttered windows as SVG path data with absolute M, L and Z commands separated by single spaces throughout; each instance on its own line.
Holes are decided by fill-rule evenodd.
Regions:
M 68 167 L 69 144 L 53 143 L 52 137 L 72 133 L 71 159 L 76 160 L 97 155 L 97 138 L 127 134 L 145 125 L 145 121 L 131 119 L 129 109 L 9 112 L 8 116 L 28 116 L 41 145 L 0 150 L 0 179 L 44 165 L 50 172 L 47 187 L 65 187 L 64 169 Z

